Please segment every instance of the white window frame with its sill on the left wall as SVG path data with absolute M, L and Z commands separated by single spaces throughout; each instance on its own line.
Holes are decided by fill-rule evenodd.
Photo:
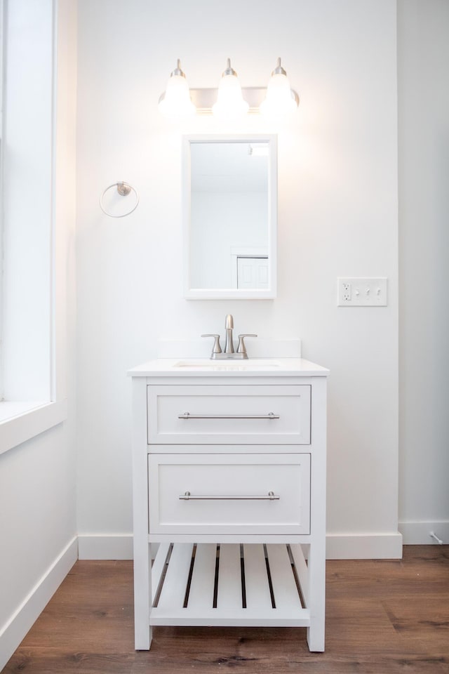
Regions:
M 16 447 L 22 442 L 30 440 L 32 437 L 39 435 L 39 433 L 52 428 L 53 426 L 65 421 L 67 419 L 67 394 L 65 391 L 65 366 L 63 364 L 63 359 L 65 359 L 65 344 L 62 344 L 61 348 L 61 339 L 57 335 L 56 330 L 56 313 L 59 311 L 62 314 L 62 328 L 64 328 L 64 308 L 63 303 L 57 301 L 55 286 L 59 279 L 57 276 L 57 264 L 56 264 L 56 254 L 55 254 L 55 244 L 56 244 L 56 223 L 55 223 L 55 212 L 57 209 L 56 206 L 56 181 L 55 181 L 55 163 L 57 160 L 57 111 L 58 111 L 58 3 L 54 3 L 53 0 L 44 0 L 43 3 L 30 4 L 27 0 L 14 0 L 13 3 L 8 4 L 7 0 L 0 0 L 0 12 L 1 12 L 1 29 L 2 29 L 2 40 L 1 40 L 1 53 L 3 58 L 2 68 L 1 68 L 1 138 L 9 138 L 9 143 L 3 143 L 3 152 L 1 152 L 0 158 L 0 195 L 1 195 L 1 214 L 0 214 L 0 229 L 1 229 L 1 279 L 0 279 L 0 454 L 8 449 Z M 19 29 L 24 29 L 24 35 L 21 35 Z M 28 31 L 28 34 L 27 34 Z M 34 31 L 34 34 L 32 33 Z M 44 36 L 44 37 L 43 37 Z M 31 39 L 31 46 L 28 45 Z M 34 39 L 33 39 L 34 38 Z M 18 77 L 15 81 L 11 76 L 11 72 L 14 72 L 14 64 L 21 63 L 23 58 L 23 49 L 20 51 L 23 42 L 27 43 L 27 58 L 25 58 L 25 77 L 23 77 L 22 82 L 22 72 L 20 67 L 18 69 Z M 36 65 L 34 61 L 36 60 Z M 11 65 L 12 64 L 12 65 Z M 42 74 L 42 65 L 44 66 L 45 72 Z M 32 131 L 29 133 L 34 133 L 34 137 L 39 135 L 37 138 L 36 144 L 29 143 L 27 146 L 29 149 L 29 157 L 25 157 L 23 161 L 23 166 L 25 174 L 23 180 L 20 180 L 20 176 L 15 175 L 14 178 L 11 178 L 10 173 L 13 171 L 8 171 L 8 185 L 5 182 L 6 166 L 7 161 L 11 161 L 9 153 L 13 153 L 13 150 L 16 148 L 13 147 L 11 150 L 10 145 L 13 146 L 14 140 L 17 140 L 18 137 L 18 128 L 14 128 L 14 124 L 18 125 L 18 122 L 15 122 L 15 114 L 17 112 L 18 105 L 26 96 L 29 95 L 29 98 L 33 96 L 33 85 L 34 78 L 38 75 L 41 77 L 42 87 L 42 108 L 40 111 L 40 120 L 44 121 L 43 133 L 41 133 L 41 126 L 39 126 L 39 134 L 36 134 L 36 128 L 32 128 Z M 8 77 L 9 80 L 8 81 Z M 20 83 L 20 84 L 18 84 Z M 27 88 L 31 84 L 31 91 L 28 92 Z M 22 90 L 20 90 L 20 86 Z M 35 93 L 35 91 L 34 91 Z M 41 93 L 41 90 L 39 90 Z M 8 100 L 9 99 L 9 100 Z M 12 101 L 12 103 L 11 103 Z M 15 111 L 13 106 L 15 105 Z M 30 126 L 32 124 L 38 124 L 38 121 L 34 121 L 36 106 L 39 105 L 39 101 L 34 101 L 34 107 L 32 107 L 33 114 L 29 117 Z M 19 117 L 22 117 L 23 114 L 23 105 L 19 110 Z M 38 111 L 39 112 L 39 111 Z M 11 122 L 13 118 L 13 122 Z M 28 120 L 27 120 L 28 121 Z M 23 119 L 22 119 L 23 122 Z M 8 126 L 9 124 L 9 126 Z M 12 129 L 12 131 L 11 131 Z M 25 141 L 24 141 L 25 142 Z M 40 145 L 39 145 L 40 143 Z M 42 152 L 44 148 L 44 152 Z M 23 148 L 18 147 L 18 150 Z M 6 152 L 7 150 L 7 152 Z M 34 153 L 34 156 L 33 156 Z M 8 154 L 8 157 L 6 157 Z M 31 198 L 29 195 L 29 176 L 26 175 L 26 171 L 35 169 L 36 167 L 36 157 L 39 154 L 39 161 L 41 157 L 45 154 L 43 163 L 43 171 L 34 171 L 34 180 L 37 185 L 32 186 L 34 193 L 32 193 Z M 16 152 L 15 157 L 23 159 L 25 153 L 20 154 Z M 29 162 L 27 162 L 29 159 Z M 17 162 L 16 162 L 17 163 Z M 29 163 L 29 166 L 27 164 Z M 10 166 L 10 164 L 8 164 Z M 14 167 L 13 167 L 14 168 Z M 39 164 L 40 168 L 40 164 Z M 13 183 L 15 180 L 15 184 Z M 41 181 L 41 183 L 39 183 Z M 29 210 L 26 209 L 22 211 L 20 208 L 16 209 L 17 212 L 14 212 L 14 203 L 13 199 L 18 201 L 18 194 L 22 198 L 22 183 L 27 185 L 27 197 L 30 200 Z M 8 190 L 13 187 L 12 192 L 15 192 L 15 197 L 11 197 Z M 40 205 L 44 204 L 43 212 L 39 212 L 39 199 L 33 201 L 33 197 L 36 197 L 36 194 L 41 194 L 43 192 L 43 197 L 41 197 Z M 11 207 L 11 203 L 13 206 Z M 37 206 L 36 206 L 37 204 Z M 34 211 L 37 211 L 36 218 L 34 218 Z M 12 213 L 12 216 L 11 216 Z M 8 219 L 9 218 L 9 219 Z M 39 220 L 40 218 L 40 220 Z M 40 227 L 40 229 L 32 231 L 32 227 Z M 8 251 L 11 252 L 13 249 L 13 260 L 19 261 L 19 256 L 22 255 L 22 250 L 19 250 L 20 255 L 18 254 L 17 242 L 13 243 L 11 246 L 11 240 L 14 237 L 14 225 L 20 225 L 22 227 L 29 227 L 30 234 L 34 234 L 37 238 L 42 241 L 43 246 L 43 261 L 42 263 L 37 263 L 36 268 L 31 267 L 29 272 L 29 278 L 25 279 L 22 282 L 24 286 L 31 286 L 34 284 L 36 277 L 33 275 L 34 272 L 41 271 L 42 276 L 39 279 L 39 302 L 41 302 L 41 310 L 43 313 L 43 318 L 40 326 L 36 329 L 36 337 L 39 340 L 39 346 L 33 348 L 35 345 L 32 344 L 34 338 L 34 325 L 32 320 L 29 319 L 27 315 L 22 319 L 23 329 L 28 329 L 29 331 L 29 341 L 31 344 L 30 350 L 32 355 L 28 357 L 28 362 L 24 364 L 21 362 L 23 353 L 20 353 L 18 348 L 17 352 L 13 352 L 13 361 L 18 366 L 18 379 L 22 383 L 27 385 L 27 378 L 32 379 L 32 357 L 36 354 L 36 362 L 41 359 L 39 363 L 39 374 L 42 381 L 35 386 L 35 389 L 39 391 L 39 395 L 27 395 L 27 392 L 24 392 L 24 395 L 8 395 L 8 387 L 6 385 L 5 377 L 5 360 L 6 354 L 9 356 L 13 351 L 11 348 L 11 334 L 8 336 L 9 343 L 8 348 L 5 349 L 5 324 L 8 319 L 8 310 L 11 312 L 11 305 L 13 305 L 13 299 L 11 299 L 11 294 L 14 296 L 14 290 L 11 291 L 11 286 L 13 282 L 17 282 L 17 278 L 13 278 L 13 282 L 8 277 L 5 277 L 5 274 L 8 273 L 8 265 L 11 269 L 13 267 L 13 262 L 7 260 L 5 262 Z M 6 239 L 5 239 L 6 237 Z M 32 240 L 32 237 L 31 237 Z M 29 244 L 26 239 L 25 244 Z M 9 247 L 8 247 L 9 246 Z M 32 244 L 29 244 L 32 246 Z M 25 245 L 24 245 L 25 249 Z M 28 257 L 32 258 L 32 254 L 28 251 Z M 26 255 L 25 255 L 26 257 Z M 38 255 L 35 255 L 36 260 Z M 41 267 L 39 267 L 41 264 Z M 13 275 L 14 276 L 14 275 Z M 17 277 L 17 274 L 16 274 Z M 26 305 L 26 296 L 27 291 L 22 290 L 22 295 L 20 292 L 16 293 L 16 296 L 19 298 L 25 298 L 24 302 Z M 32 312 L 35 308 L 32 304 L 32 292 L 30 292 L 31 299 L 29 300 L 29 305 L 23 307 L 23 313 L 27 311 Z M 34 318 L 36 317 L 36 311 L 34 313 Z M 27 324 L 29 322 L 29 325 Z M 60 326 L 59 326 L 60 327 Z M 20 329 L 20 322 L 18 327 L 15 326 L 15 329 Z M 22 329 L 22 347 L 23 347 L 23 329 Z M 40 331 L 40 332 L 39 332 Z M 36 340 L 36 341 L 37 341 Z M 63 341 L 63 340 L 62 340 Z M 22 358 L 26 360 L 25 358 Z M 8 373 L 9 380 L 12 379 L 11 372 L 13 372 L 13 367 L 11 366 L 11 359 L 8 361 L 8 368 L 10 369 Z M 21 368 L 21 369 L 20 369 Z M 57 376 L 58 375 L 58 376 Z M 37 381 L 36 376 L 36 381 Z M 13 387 L 14 388 L 14 387 Z M 33 386 L 30 390 L 32 391 Z M 17 392 L 17 387 L 16 391 Z

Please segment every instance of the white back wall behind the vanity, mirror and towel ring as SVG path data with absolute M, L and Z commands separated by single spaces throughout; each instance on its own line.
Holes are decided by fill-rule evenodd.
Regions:
M 396 2 L 209 0 L 79 3 L 77 345 L 81 556 L 125 555 L 131 531 L 130 383 L 158 338 L 236 329 L 303 340 L 329 382 L 330 555 L 400 552 Z M 201 20 L 199 20 L 201 17 Z M 226 58 L 264 86 L 281 55 L 297 121 L 213 119 L 173 127 L 157 100 L 176 58 L 216 86 Z M 182 299 L 181 133 L 279 133 L 276 300 Z M 114 220 L 102 190 L 126 180 L 140 205 Z M 336 278 L 386 276 L 387 308 L 337 308 Z M 207 352 L 205 345 L 205 355 Z M 124 535 L 121 538 L 121 535 Z M 98 538 L 103 536 L 103 538 Z M 98 548 L 95 552 L 98 554 Z

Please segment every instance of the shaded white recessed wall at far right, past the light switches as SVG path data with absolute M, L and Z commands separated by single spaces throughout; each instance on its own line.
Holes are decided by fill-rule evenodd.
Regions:
M 398 2 L 401 531 L 449 543 L 449 3 Z

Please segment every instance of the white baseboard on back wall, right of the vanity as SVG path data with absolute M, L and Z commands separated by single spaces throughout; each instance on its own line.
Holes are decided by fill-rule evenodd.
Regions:
M 396 534 L 327 534 L 328 560 L 400 560 L 402 536 Z

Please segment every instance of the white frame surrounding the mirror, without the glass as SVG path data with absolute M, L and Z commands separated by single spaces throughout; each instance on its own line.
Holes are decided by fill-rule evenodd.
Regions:
M 192 143 L 268 143 L 268 256 L 269 283 L 267 289 L 237 288 L 192 288 L 190 284 L 191 244 L 191 154 Z M 258 134 L 245 136 L 183 136 L 182 137 L 182 202 L 183 202 L 183 250 L 184 250 L 184 297 L 188 300 L 267 300 L 276 297 L 277 276 L 277 136 Z

